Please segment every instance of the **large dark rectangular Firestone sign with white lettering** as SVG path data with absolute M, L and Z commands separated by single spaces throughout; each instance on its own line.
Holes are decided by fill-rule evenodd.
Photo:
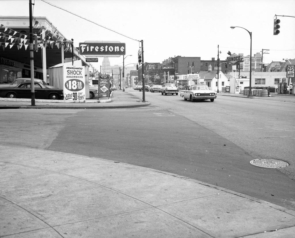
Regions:
M 125 55 L 126 46 L 121 42 L 83 42 L 79 43 L 82 55 Z

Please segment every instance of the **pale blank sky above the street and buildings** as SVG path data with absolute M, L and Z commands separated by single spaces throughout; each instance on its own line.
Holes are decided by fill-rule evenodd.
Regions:
M 263 51 L 269 53 L 263 54 L 264 63 L 295 58 L 294 0 L 32 0 L 32 3 L 33 16 L 45 16 L 63 36 L 74 39 L 75 47 L 84 41 L 125 43 L 125 66 L 137 64 L 140 40 L 145 62 L 162 63 L 178 55 L 217 59 L 218 45 L 220 60 L 226 59 L 228 51 L 249 55 L 250 34 L 245 29 L 252 32 L 252 55 L 269 49 Z M 0 5 L 2 16 L 29 16 L 29 0 L 0 0 Z M 276 36 L 275 15 L 281 15 L 277 16 L 281 28 Z M 111 65 L 123 64 L 123 56 L 109 60 Z M 99 57 L 99 62 L 92 64 L 99 70 L 101 62 Z

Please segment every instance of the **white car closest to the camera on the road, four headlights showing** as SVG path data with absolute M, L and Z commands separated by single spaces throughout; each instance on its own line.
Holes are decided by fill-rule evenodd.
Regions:
M 180 93 L 180 96 L 186 101 L 187 99 L 193 101 L 207 100 L 214 101 L 217 97 L 215 91 L 208 88 L 206 84 L 193 84 L 186 86 L 186 89 Z

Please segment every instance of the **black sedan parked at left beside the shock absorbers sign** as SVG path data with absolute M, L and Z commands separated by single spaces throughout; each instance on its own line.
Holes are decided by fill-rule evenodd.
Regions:
M 35 99 L 63 99 L 63 89 L 47 88 L 40 82 L 34 83 Z M 14 88 L 0 88 L 0 97 L 31 98 L 31 82 L 23 82 Z

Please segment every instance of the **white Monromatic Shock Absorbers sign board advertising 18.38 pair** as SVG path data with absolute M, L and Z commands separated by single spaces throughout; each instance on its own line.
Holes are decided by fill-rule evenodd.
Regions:
M 65 100 L 85 102 L 85 69 L 63 66 L 63 94 Z

